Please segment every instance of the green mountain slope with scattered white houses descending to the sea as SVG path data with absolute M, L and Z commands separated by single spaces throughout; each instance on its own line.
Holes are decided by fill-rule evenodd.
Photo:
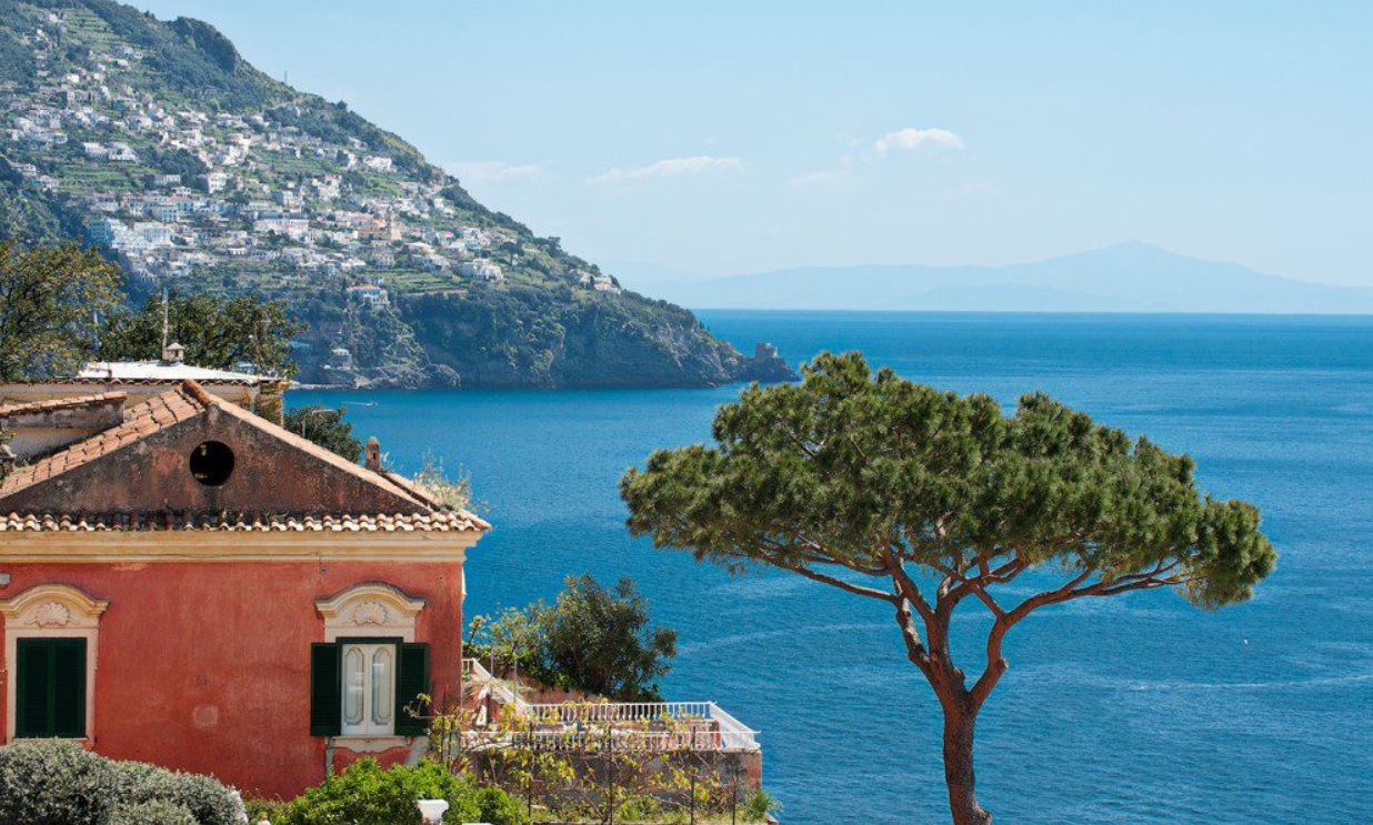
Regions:
M 100 246 L 133 298 L 286 299 L 310 325 L 309 382 L 791 377 L 483 207 L 346 104 L 266 77 L 200 21 L 0 0 L 0 236 Z

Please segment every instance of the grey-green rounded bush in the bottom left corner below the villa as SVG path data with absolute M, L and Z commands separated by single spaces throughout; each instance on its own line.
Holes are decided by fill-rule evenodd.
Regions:
M 173 809 L 181 809 L 199 825 L 238 825 L 243 815 L 238 793 L 210 777 L 114 762 L 73 743 L 0 748 L 0 822 L 5 825 L 106 825 L 132 806 L 157 806 L 159 815 L 172 817 Z

